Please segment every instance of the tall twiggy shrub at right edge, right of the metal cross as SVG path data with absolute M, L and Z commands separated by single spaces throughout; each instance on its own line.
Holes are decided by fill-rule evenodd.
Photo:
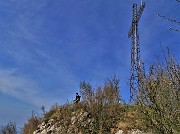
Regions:
M 152 65 L 148 74 L 143 70 L 137 94 L 138 106 L 147 125 L 155 133 L 180 132 L 180 66 L 168 56 L 164 65 Z

